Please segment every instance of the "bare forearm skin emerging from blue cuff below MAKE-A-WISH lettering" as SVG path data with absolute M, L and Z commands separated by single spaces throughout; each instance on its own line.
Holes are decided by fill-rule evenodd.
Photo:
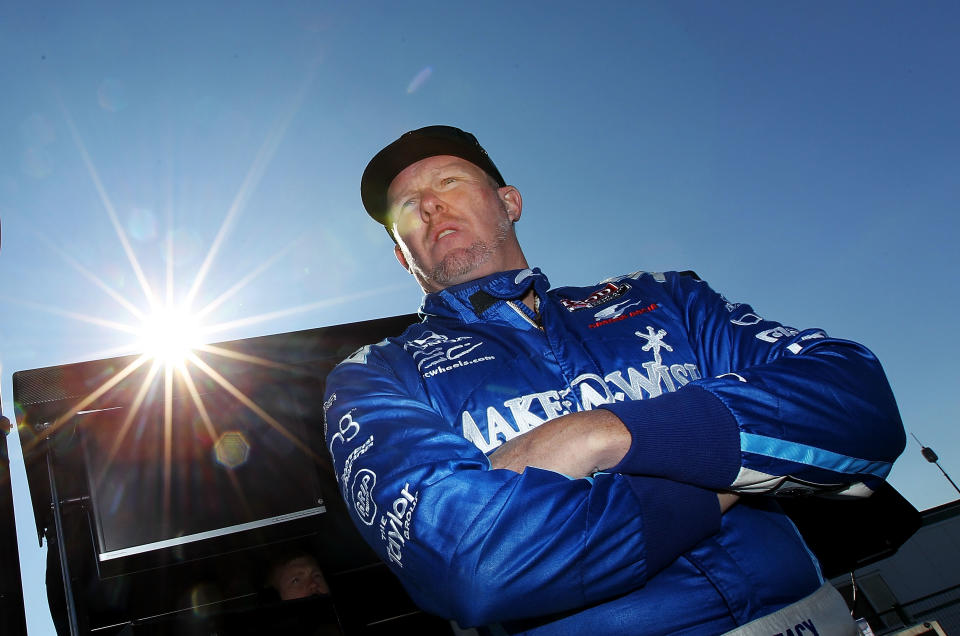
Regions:
M 630 448 L 630 432 L 605 409 L 571 413 L 515 437 L 490 455 L 493 468 L 527 466 L 587 477 L 615 466 Z

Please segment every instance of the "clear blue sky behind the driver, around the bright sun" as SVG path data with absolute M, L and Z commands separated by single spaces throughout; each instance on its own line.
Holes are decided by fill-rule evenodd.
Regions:
M 88 320 L 138 322 L 105 287 L 147 307 L 118 227 L 160 296 L 168 271 L 175 299 L 205 272 L 194 307 L 250 275 L 209 342 L 414 310 L 359 177 L 449 123 L 520 188 L 554 284 L 693 269 L 861 341 L 960 477 L 960 5 L 143 4 L 0 5 L 8 416 L 15 371 L 132 351 Z M 8 443 L 29 629 L 52 634 Z M 912 438 L 891 480 L 956 497 Z

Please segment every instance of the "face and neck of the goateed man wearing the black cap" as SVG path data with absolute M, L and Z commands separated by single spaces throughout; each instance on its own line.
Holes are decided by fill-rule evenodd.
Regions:
M 527 267 L 513 231 L 522 200 L 449 155 L 407 166 L 387 190 L 397 260 L 427 293 Z

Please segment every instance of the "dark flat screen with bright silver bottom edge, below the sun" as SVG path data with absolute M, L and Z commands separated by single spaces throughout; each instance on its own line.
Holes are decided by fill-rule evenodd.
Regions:
M 315 380 L 258 368 L 168 399 L 159 375 L 139 408 L 77 414 L 101 561 L 323 512 Z

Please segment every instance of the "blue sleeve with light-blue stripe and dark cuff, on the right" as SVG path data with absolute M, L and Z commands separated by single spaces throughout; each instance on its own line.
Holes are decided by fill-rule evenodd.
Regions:
M 634 437 L 618 469 L 768 494 L 863 496 L 886 477 L 905 438 L 866 347 L 765 319 L 698 279 L 663 282 L 703 377 L 662 400 L 605 407 Z M 696 456 L 704 440 L 711 453 Z

